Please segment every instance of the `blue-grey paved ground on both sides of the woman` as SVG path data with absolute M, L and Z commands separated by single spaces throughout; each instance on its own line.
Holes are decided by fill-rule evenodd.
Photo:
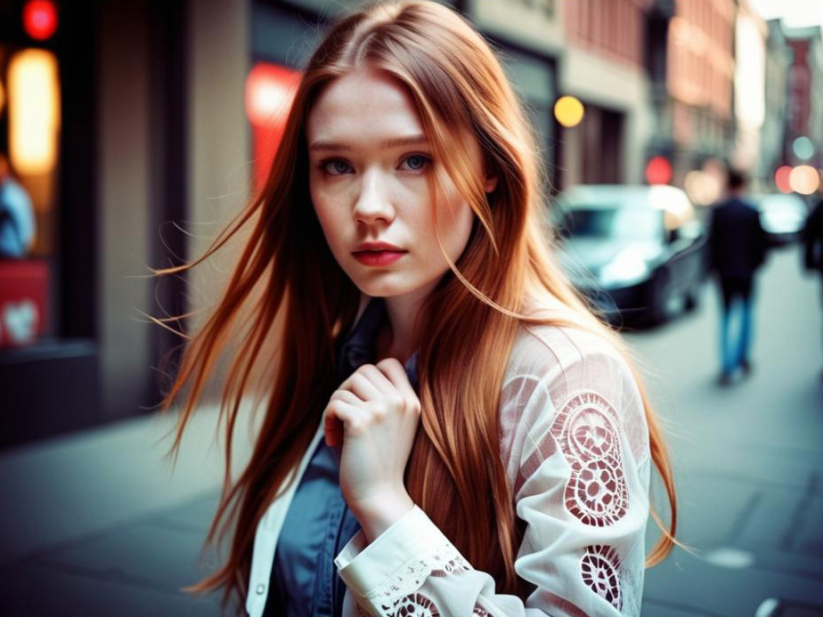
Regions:
M 679 489 L 680 540 L 647 572 L 644 615 L 815 615 L 823 598 L 823 369 L 819 281 L 796 248 L 773 253 L 757 290 L 754 373 L 715 385 L 717 296 L 696 312 L 627 335 L 646 364 Z M 144 417 L 0 457 L 6 615 L 217 615 L 216 597 L 178 589 L 206 572 L 200 542 L 221 475 L 204 410 L 175 474 L 157 439 L 171 418 Z M 246 443 L 240 435 L 239 444 Z M 248 453 L 240 447 L 238 461 Z M 663 492 L 656 487 L 656 499 Z M 649 524 L 648 548 L 656 540 Z M 204 567 L 214 564 L 207 558 Z M 803 606 L 806 605 L 805 608 Z M 768 606 L 765 605 L 765 606 Z

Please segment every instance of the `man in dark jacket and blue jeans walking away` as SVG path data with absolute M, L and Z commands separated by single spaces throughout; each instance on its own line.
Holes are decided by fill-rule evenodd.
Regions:
M 760 213 L 744 198 L 746 175 L 729 169 L 727 189 L 727 198 L 713 207 L 709 231 L 710 264 L 722 301 L 721 386 L 732 382 L 737 369 L 745 375 L 752 370 L 754 274 L 767 248 Z

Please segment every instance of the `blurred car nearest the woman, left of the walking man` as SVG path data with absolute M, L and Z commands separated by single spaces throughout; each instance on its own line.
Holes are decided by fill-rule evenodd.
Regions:
M 559 259 L 614 321 L 661 323 L 672 300 L 697 306 L 706 235 L 686 193 L 668 185 L 589 184 L 558 196 Z

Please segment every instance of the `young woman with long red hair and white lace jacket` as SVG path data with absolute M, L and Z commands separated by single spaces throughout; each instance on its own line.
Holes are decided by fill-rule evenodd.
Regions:
M 230 340 L 227 443 L 277 367 L 209 532 L 232 530 L 227 563 L 192 589 L 250 615 L 640 614 L 676 542 L 672 475 L 620 339 L 552 257 L 542 184 L 457 13 L 384 3 L 330 30 L 265 190 L 160 271 L 250 228 L 168 394 L 191 384 L 175 447 Z M 647 558 L 652 462 L 671 523 L 652 511 Z

